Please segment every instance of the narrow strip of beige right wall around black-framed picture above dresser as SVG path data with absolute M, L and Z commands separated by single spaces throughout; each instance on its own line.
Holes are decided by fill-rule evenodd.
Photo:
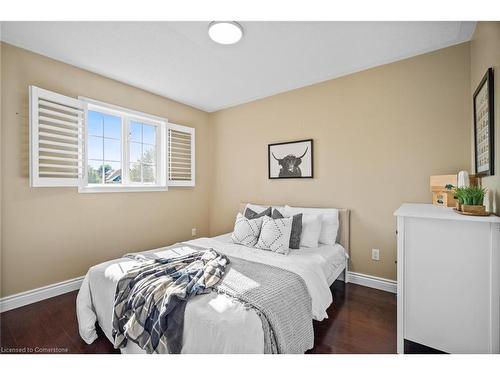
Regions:
M 495 93 L 495 175 L 482 179 L 489 190 L 490 207 L 500 214 L 500 22 L 478 22 L 471 40 L 471 96 L 488 68 L 493 68 Z M 472 112 L 471 112 L 472 113 Z M 471 114 L 472 116 L 472 114 Z M 471 117 L 472 118 L 472 117 Z M 474 166 L 474 122 L 471 120 L 472 165 Z

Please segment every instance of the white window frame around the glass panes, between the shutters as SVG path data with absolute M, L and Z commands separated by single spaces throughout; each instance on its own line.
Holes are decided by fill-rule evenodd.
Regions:
M 116 192 L 147 192 L 147 191 L 167 191 L 168 176 L 168 120 L 166 118 L 150 115 L 148 113 L 131 110 L 114 104 L 105 103 L 91 98 L 79 96 L 84 104 L 84 144 L 83 144 L 83 176 L 78 186 L 79 193 L 116 193 Z M 89 184 L 88 183 L 88 112 L 96 111 L 103 114 L 118 116 L 121 119 L 121 168 L 122 182 L 120 184 Z M 156 128 L 156 183 L 132 183 L 129 181 L 129 158 L 130 158 L 130 138 L 129 128 L 131 121 L 152 125 Z M 127 183 L 124 184 L 124 181 Z

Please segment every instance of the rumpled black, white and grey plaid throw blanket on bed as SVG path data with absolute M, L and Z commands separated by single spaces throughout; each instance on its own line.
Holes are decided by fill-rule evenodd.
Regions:
M 191 296 L 220 282 L 229 260 L 213 249 L 175 258 L 130 255 L 141 264 L 118 281 L 113 315 L 116 348 L 127 339 L 147 353 L 180 353 L 184 310 Z

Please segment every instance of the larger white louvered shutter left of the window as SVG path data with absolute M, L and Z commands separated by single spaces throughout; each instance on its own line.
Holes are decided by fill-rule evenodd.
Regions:
M 30 185 L 78 186 L 83 169 L 83 104 L 30 86 Z

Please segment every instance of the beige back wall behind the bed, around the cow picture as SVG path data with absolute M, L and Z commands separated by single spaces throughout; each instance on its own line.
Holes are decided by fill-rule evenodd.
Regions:
M 346 207 L 351 270 L 395 279 L 394 210 L 430 202 L 430 175 L 470 165 L 469 52 L 465 43 L 211 114 L 210 233 L 231 230 L 241 201 Z M 315 178 L 268 180 L 267 145 L 304 138 Z

